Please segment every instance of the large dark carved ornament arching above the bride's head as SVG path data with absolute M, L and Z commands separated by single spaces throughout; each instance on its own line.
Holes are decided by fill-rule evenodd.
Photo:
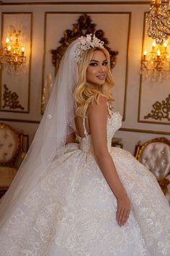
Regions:
M 61 43 L 61 46 L 58 46 L 58 48 L 56 48 L 55 50 L 51 50 L 51 53 L 53 55 L 52 61 L 56 72 L 58 70 L 63 54 L 65 53 L 66 48 L 69 46 L 69 44 L 72 43 L 73 40 L 75 40 L 76 38 L 79 38 L 81 35 L 87 34 L 94 34 L 97 38 L 104 41 L 104 48 L 109 51 L 111 68 L 115 67 L 118 51 L 112 51 L 109 48 L 109 40 L 107 38 L 104 38 L 104 31 L 95 30 L 96 26 L 96 24 L 91 23 L 91 17 L 84 13 L 79 17 L 78 22 L 76 24 L 73 24 L 73 30 L 68 29 L 64 31 L 63 38 L 61 38 L 61 40 L 59 41 Z

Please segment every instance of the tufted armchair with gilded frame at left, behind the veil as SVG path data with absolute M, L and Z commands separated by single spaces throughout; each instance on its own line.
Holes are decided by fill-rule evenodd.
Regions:
M 0 197 L 9 189 L 24 155 L 22 135 L 0 123 Z

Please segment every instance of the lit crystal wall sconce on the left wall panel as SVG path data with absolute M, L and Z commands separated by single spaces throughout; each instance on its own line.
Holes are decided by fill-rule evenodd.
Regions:
M 11 26 L 5 46 L 0 46 L 0 68 L 7 70 L 9 74 L 19 74 L 26 64 L 24 47 L 20 46 L 21 34 L 22 30 Z

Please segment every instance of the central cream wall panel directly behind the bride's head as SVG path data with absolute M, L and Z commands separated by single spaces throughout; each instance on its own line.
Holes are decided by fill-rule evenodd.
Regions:
M 55 49 L 59 40 L 63 37 L 63 31 L 72 30 L 72 24 L 76 23 L 80 14 L 56 14 L 47 13 L 45 19 L 45 72 L 43 82 L 51 74 L 55 80 L 55 67 L 52 64 L 51 49 Z M 119 109 L 125 117 L 125 98 L 128 77 L 128 38 L 130 37 L 130 13 L 90 13 L 92 23 L 97 24 L 96 30 L 103 30 L 104 37 L 109 40 L 109 48 L 118 51 L 117 63 L 112 70 L 115 79 L 114 97 L 115 109 Z M 117 26 L 119 24 L 119 26 Z M 121 74 L 121 75 L 120 75 Z

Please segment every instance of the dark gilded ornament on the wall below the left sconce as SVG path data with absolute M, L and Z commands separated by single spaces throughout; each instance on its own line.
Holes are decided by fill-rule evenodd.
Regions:
M 17 93 L 15 92 L 12 93 L 12 91 L 9 90 L 7 85 L 4 85 L 4 94 L 3 94 L 4 105 L 2 106 L 2 108 L 6 108 L 6 107 L 9 109 L 20 108 L 24 110 L 24 107 L 22 107 L 21 104 L 19 104 L 18 98 L 19 96 L 17 95 Z

